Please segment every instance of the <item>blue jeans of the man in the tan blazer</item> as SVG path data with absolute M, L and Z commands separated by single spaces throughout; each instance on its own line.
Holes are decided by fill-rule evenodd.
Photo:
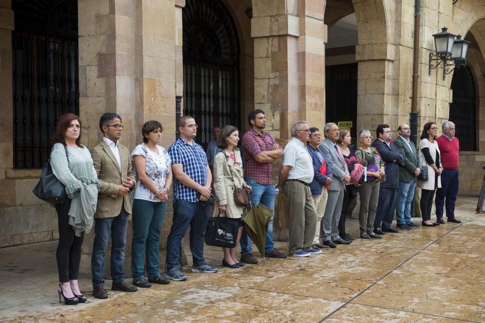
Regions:
M 93 274 L 93 286 L 103 286 L 104 255 L 111 235 L 111 277 L 113 282 L 121 283 L 125 279 L 123 262 L 125 261 L 126 228 L 128 225 L 128 213 L 125 207 L 117 216 L 95 218 L 95 237 L 93 254 L 91 256 L 91 272 Z

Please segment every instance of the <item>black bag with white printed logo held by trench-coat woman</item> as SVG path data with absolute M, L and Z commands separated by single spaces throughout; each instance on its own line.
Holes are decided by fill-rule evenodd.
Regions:
M 238 238 L 239 223 L 228 217 L 211 217 L 207 222 L 204 240 L 209 246 L 234 248 Z

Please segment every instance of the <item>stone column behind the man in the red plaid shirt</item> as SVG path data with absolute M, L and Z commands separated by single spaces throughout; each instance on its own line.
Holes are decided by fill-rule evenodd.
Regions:
M 265 111 L 265 130 L 284 146 L 297 120 L 324 124 L 323 3 L 253 1 L 253 15 L 255 108 Z M 273 163 L 275 183 L 281 162 Z M 275 202 L 274 239 L 288 240 L 284 194 Z

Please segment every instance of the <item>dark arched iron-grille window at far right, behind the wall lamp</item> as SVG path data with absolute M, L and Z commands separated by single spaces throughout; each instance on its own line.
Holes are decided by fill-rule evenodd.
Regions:
M 461 151 L 477 150 L 477 101 L 475 80 L 468 66 L 455 68 L 450 103 L 450 121 L 456 126 L 455 136 L 460 140 Z

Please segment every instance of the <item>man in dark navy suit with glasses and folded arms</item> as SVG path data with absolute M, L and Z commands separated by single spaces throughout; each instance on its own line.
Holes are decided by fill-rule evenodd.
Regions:
M 386 181 L 381 183 L 379 189 L 379 201 L 377 202 L 377 213 L 374 220 L 374 233 L 398 233 L 399 230 L 392 228 L 392 219 L 396 211 L 397 188 L 399 185 L 398 165 L 403 162 L 404 156 L 392 144 L 392 131 L 388 124 L 379 124 L 376 129 L 376 135 L 377 139 L 372 142 L 372 147 L 377 149 L 382 160 L 384 160 Z

